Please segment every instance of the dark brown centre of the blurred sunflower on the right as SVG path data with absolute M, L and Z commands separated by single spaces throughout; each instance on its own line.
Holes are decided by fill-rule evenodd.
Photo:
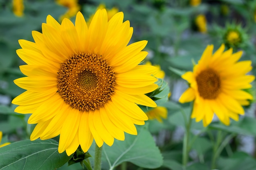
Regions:
M 204 99 L 216 99 L 220 93 L 220 76 L 218 73 L 207 68 L 196 77 L 198 92 Z

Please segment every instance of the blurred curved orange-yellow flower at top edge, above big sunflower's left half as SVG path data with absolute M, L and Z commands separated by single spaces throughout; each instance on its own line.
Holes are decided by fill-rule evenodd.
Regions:
M 61 15 L 60 21 L 62 21 L 64 18 L 71 18 L 76 15 L 76 13 L 80 10 L 80 5 L 78 3 L 78 0 L 56 0 L 58 4 L 61 6 L 67 7 L 67 12 Z

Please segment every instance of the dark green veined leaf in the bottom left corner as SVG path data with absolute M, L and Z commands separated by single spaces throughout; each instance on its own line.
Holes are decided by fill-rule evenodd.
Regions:
M 58 153 L 58 142 L 23 140 L 0 148 L 0 170 L 55 170 L 70 157 Z

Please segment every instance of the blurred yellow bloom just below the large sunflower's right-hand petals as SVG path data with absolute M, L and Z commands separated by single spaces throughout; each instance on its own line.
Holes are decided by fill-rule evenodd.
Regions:
M 163 119 L 167 118 L 167 108 L 162 106 L 157 106 L 156 108 L 153 108 L 149 110 L 146 114 L 148 116 L 149 120 L 157 119 L 160 123 L 163 122 Z

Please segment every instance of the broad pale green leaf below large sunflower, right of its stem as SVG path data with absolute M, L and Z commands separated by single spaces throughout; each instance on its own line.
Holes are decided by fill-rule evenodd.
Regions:
M 138 128 L 137 128 L 138 129 Z M 158 168 L 162 166 L 162 155 L 155 145 L 153 137 L 145 127 L 139 128 L 138 135 L 126 134 L 124 141 L 115 140 L 112 146 L 103 146 L 102 167 L 113 169 L 122 162 L 131 162 L 142 168 Z M 94 147 L 89 150 L 94 157 Z M 108 168 L 106 168 L 108 169 Z

